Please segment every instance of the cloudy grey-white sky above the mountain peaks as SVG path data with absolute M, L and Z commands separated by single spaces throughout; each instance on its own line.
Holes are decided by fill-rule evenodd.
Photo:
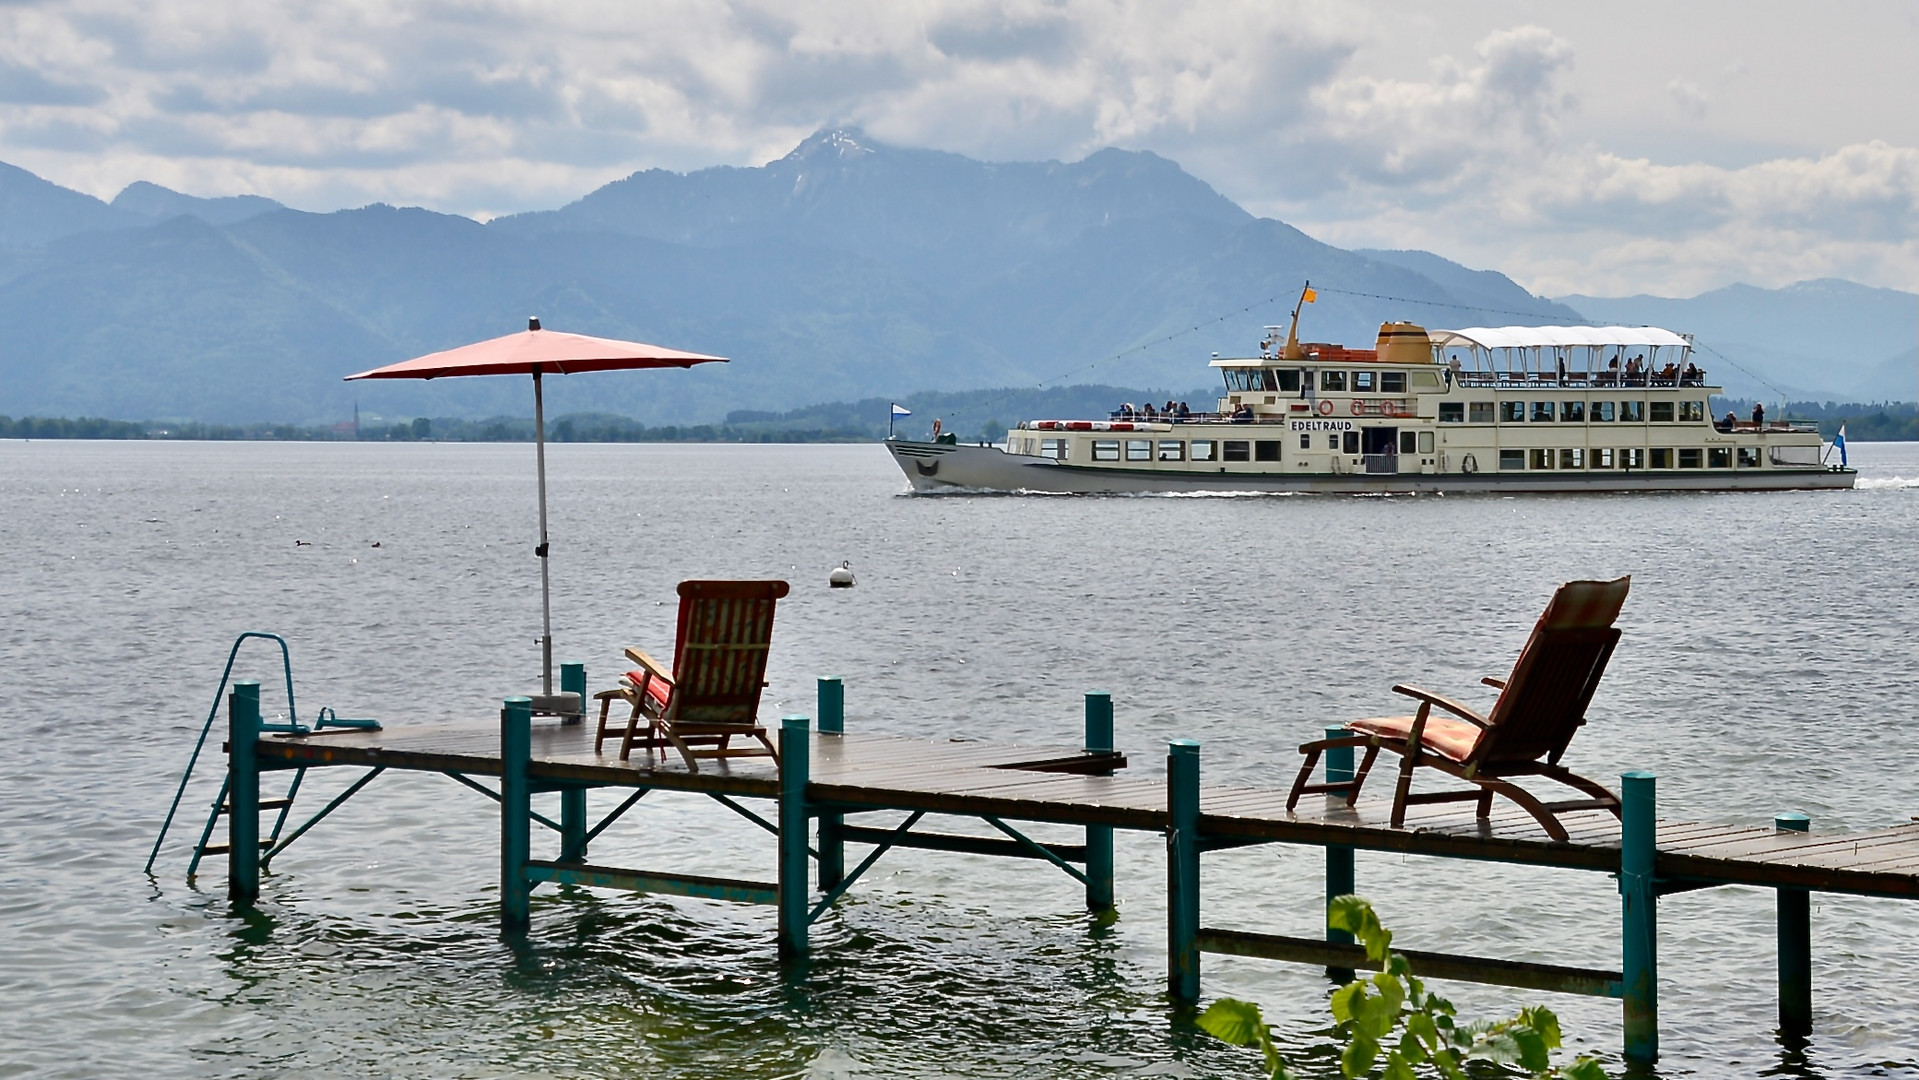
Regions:
M 491 217 L 827 125 L 1180 161 L 1339 246 L 1547 292 L 1919 288 L 1909 0 L 0 6 L 0 159 Z

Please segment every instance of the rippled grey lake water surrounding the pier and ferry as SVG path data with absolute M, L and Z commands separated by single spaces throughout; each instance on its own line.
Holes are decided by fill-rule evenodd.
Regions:
M 846 679 L 850 731 L 1073 744 L 1107 689 L 1132 773 L 1203 742 L 1211 783 L 1290 783 L 1293 746 L 1470 700 L 1551 589 L 1633 575 L 1568 763 L 1660 775 L 1671 817 L 1871 829 L 1919 813 L 1919 445 L 1860 445 L 1858 491 L 1602 497 L 906 497 L 873 445 L 560 445 L 560 660 L 595 689 L 668 650 L 683 577 L 794 583 L 768 714 Z M 532 447 L 0 443 L 0 1076 L 1255 1076 L 1169 1021 L 1165 854 L 1121 834 L 1117 923 L 1017 859 L 896 852 L 781 978 L 773 911 L 541 890 L 495 932 L 491 802 L 390 775 L 288 850 L 255 913 L 184 880 L 215 750 L 140 873 L 236 633 L 292 643 L 299 714 L 489 719 L 537 681 Z M 301 543 L 305 541 L 305 543 Z M 378 547 L 374 547 L 378 545 Z M 850 560 L 860 585 L 829 591 Z M 269 685 L 276 658 L 244 652 Z M 301 806 L 349 777 L 317 771 Z M 551 796 L 547 796 L 551 798 Z M 595 808 L 610 796 L 595 796 Z M 1046 834 L 1046 831 L 1040 831 Z M 535 836 L 535 844 L 545 838 Z M 595 861 L 768 879 L 773 846 L 654 796 Z M 1205 859 L 1205 923 L 1315 934 L 1320 854 Z M 1618 965 L 1604 875 L 1359 854 L 1403 948 Z M 1919 904 L 1813 898 L 1817 1034 L 1773 1036 L 1773 898 L 1660 904 L 1662 1072 L 1919 1074 Z M 1207 957 L 1309 1074 L 1328 984 Z M 1462 1017 L 1552 1005 L 1618 1065 L 1614 1001 L 1451 984 Z

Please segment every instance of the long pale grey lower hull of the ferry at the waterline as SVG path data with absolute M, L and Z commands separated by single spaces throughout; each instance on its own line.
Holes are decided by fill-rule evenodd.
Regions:
M 1804 491 L 1852 487 L 1850 468 L 1752 470 L 1585 470 L 1541 472 L 1397 472 L 1397 474 L 1284 474 L 1220 468 L 1155 470 L 1069 464 L 1009 455 L 1000 447 L 963 447 L 888 439 L 887 453 L 915 493 L 1330 493 L 1414 495 L 1447 491 Z

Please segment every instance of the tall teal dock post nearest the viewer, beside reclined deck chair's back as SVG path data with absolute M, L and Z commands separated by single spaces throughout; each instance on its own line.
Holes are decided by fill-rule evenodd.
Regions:
M 1620 777 L 1620 944 L 1623 963 L 1625 1059 L 1660 1059 L 1658 894 L 1652 867 L 1658 850 L 1658 802 L 1652 773 Z

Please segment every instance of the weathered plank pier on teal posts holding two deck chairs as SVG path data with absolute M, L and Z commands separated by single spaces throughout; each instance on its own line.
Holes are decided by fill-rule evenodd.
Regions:
M 568 666 L 583 689 L 583 673 Z M 1625 1011 L 1625 1055 L 1658 1057 L 1658 973 L 1654 930 L 1658 898 L 1670 892 L 1748 884 L 1779 896 L 1779 1021 L 1789 1034 L 1812 1030 L 1812 934 L 1808 892 L 1842 892 L 1919 900 L 1919 823 L 1846 834 L 1808 831 L 1804 815 L 1781 815 L 1773 829 L 1658 819 L 1654 777 L 1622 777 L 1623 823 L 1610 813 L 1564 817 L 1570 842 L 1551 840 L 1522 811 L 1495 811 L 1478 821 L 1470 804 L 1414 808 L 1405 827 L 1387 825 L 1386 802 L 1309 802 L 1286 810 L 1286 790 L 1205 787 L 1199 744 L 1173 740 L 1165 781 L 1125 777 L 1126 760 L 1113 742 L 1113 704 L 1086 694 L 1086 733 L 1078 748 L 1019 748 L 984 742 L 940 742 L 842 733 L 839 679 L 819 681 L 817 731 L 802 716 L 783 717 L 783 767 L 746 760 L 729 767 L 687 771 L 679 760 L 620 762 L 597 754 L 593 727 L 532 717 L 528 698 L 507 698 L 497 723 L 407 731 L 338 729 L 263 731 L 259 685 L 234 683 L 228 696 L 230 842 L 228 894 L 248 904 L 259 894 L 259 871 L 332 810 L 388 769 L 445 773 L 501 804 L 501 927 L 528 928 L 528 894 L 539 882 L 628 888 L 779 907 L 779 950 L 808 950 L 808 925 L 839 900 L 890 848 L 931 848 L 1048 861 L 1086 888 L 1092 909 L 1113 905 L 1113 831 L 1167 836 L 1169 992 L 1174 1001 L 1199 998 L 1205 951 L 1322 965 L 1366 967 L 1362 950 L 1338 932 L 1290 938 L 1245 928 L 1209 928 L 1199 921 L 1199 859 L 1205 852 L 1251 844 L 1309 844 L 1326 850 L 1326 896 L 1353 892 L 1353 852 L 1403 852 L 1495 863 L 1583 869 L 1618 877 L 1622 896 L 1622 969 L 1579 969 L 1445 953 L 1407 953 L 1435 978 L 1462 978 L 1535 990 L 1620 998 Z M 259 834 L 261 773 L 311 767 L 361 767 L 334 802 L 284 838 Z M 1351 750 L 1326 758 L 1328 779 L 1351 775 Z M 497 787 L 487 787 L 487 779 Z M 585 792 L 626 790 L 628 798 L 599 823 L 587 821 Z M 591 842 L 651 790 L 699 792 L 741 813 L 779 846 L 773 882 L 679 875 L 660 869 L 604 867 L 589 859 Z M 560 821 L 533 813 L 532 794 L 560 792 Z M 746 802 L 773 804 L 771 815 Z M 272 810 L 269 800 L 265 810 Z M 278 808 L 284 813 L 284 808 Z M 858 825 L 867 811 L 906 811 L 904 823 Z M 973 817 L 1000 838 L 919 831 L 925 815 Z M 1084 827 L 1082 844 L 1050 844 L 1013 823 Z M 551 859 L 533 857 L 532 825 L 558 834 Z M 278 831 L 274 831 L 278 833 Z M 817 838 L 817 842 L 814 842 Z M 846 846 L 871 848 L 852 869 Z

